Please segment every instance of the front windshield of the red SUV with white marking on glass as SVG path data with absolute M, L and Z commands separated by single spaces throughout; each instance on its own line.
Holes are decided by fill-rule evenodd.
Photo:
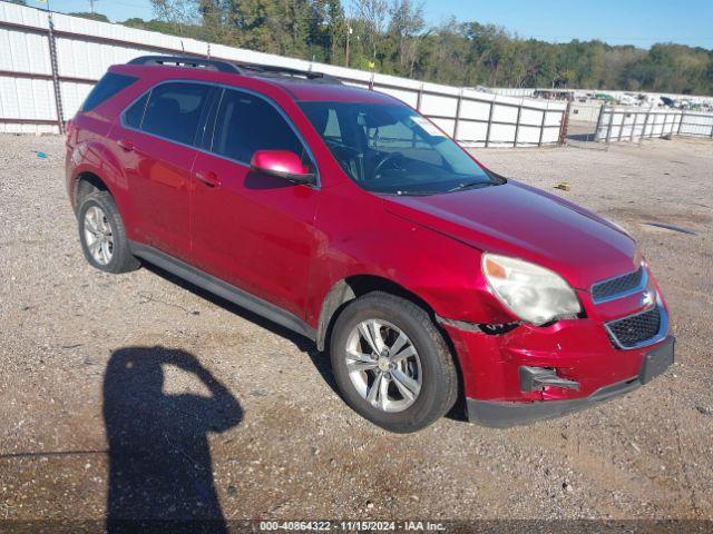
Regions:
M 368 191 L 436 195 L 502 182 L 407 106 L 300 102 L 300 107 L 342 169 Z

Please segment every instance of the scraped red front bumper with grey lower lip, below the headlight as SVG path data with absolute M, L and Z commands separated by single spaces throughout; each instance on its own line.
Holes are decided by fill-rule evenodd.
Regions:
M 459 356 L 468 418 L 507 427 L 557 417 L 624 395 L 665 372 L 674 337 L 622 350 L 602 324 L 565 320 L 546 328 L 518 325 L 491 335 L 440 320 Z

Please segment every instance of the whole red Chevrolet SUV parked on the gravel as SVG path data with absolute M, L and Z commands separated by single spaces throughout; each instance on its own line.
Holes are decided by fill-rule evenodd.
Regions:
M 315 72 L 114 66 L 69 125 L 87 260 L 155 264 L 329 347 L 344 400 L 394 432 L 457 400 L 508 426 L 673 362 L 634 239 L 505 179 L 401 101 Z

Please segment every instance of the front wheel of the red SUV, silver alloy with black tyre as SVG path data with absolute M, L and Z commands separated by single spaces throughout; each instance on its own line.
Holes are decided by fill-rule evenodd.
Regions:
M 398 433 L 416 432 L 445 415 L 458 395 L 458 375 L 429 315 L 381 291 L 351 303 L 331 339 L 336 384 L 355 412 Z

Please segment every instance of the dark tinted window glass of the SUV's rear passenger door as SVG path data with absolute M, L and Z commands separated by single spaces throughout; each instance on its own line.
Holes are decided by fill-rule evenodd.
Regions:
M 164 83 L 155 87 L 146 106 L 141 130 L 192 145 L 209 91 L 209 86 L 201 83 Z

